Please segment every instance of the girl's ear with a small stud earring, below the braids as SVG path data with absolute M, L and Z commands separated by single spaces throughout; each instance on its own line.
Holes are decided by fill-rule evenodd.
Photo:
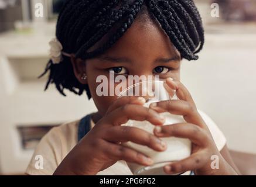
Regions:
M 87 84 L 87 79 L 82 77 L 86 74 L 86 62 L 80 58 L 76 58 L 74 54 L 71 54 L 71 63 L 73 65 L 74 75 L 81 84 Z

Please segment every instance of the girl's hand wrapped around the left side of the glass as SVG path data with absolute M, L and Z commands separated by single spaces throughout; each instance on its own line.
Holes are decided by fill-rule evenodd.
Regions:
M 141 165 L 153 164 L 151 158 L 120 144 L 132 141 L 156 151 L 166 150 L 166 144 L 153 134 L 135 127 L 121 126 L 129 119 L 147 120 L 154 125 L 162 125 L 165 119 L 155 110 L 142 106 L 144 103 L 145 99 L 141 97 L 117 99 L 105 116 L 70 151 L 54 174 L 95 175 L 118 160 Z

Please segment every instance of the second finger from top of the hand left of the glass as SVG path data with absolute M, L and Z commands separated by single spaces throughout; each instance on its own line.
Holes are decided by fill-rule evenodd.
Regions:
M 106 116 L 106 120 L 113 126 L 120 126 L 128 120 L 148 121 L 154 125 L 162 125 L 165 118 L 153 109 L 140 105 L 123 105 Z

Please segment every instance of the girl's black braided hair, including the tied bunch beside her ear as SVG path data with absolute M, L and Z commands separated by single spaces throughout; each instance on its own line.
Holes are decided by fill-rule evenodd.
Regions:
M 59 13 L 56 37 L 65 53 L 87 60 L 103 54 L 145 13 L 158 21 L 182 58 L 199 58 L 196 54 L 203 48 L 204 29 L 193 0 L 69 0 Z M 40 77 L 48 71 L 45 90 L 55 84 L 64 96 L 64 89 L 69 89 L 77 95 L 86 91 L 91 98 L 88 85 L 75 77 L 70 57 L 63 56 L 59 64 L 50 60 Z

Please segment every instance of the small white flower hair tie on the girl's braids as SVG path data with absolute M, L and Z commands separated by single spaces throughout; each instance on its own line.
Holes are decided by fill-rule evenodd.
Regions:
M 59 64 L 62 61 L 62 44 L 56 38 L 52 39 L 50 42 L 50 58 L 53 64 Z

